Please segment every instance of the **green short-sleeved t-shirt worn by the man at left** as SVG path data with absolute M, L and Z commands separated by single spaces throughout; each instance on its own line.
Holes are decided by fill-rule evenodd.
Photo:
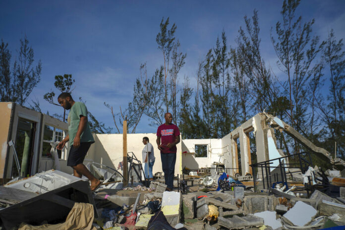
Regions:
M 67 118 L 70 146 L 73 144 L 74 137 L 77 134 L 81 115 L 87 117 L 86 106 L 81 102 L 75 102 Z M 90 130 L 89 122 L 87 122 L 84 131 L 80 135 L 80 142 L 95 142 Z

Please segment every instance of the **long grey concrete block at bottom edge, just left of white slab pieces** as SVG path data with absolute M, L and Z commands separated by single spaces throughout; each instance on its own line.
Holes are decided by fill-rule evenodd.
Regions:
M 245 217 L 233 216 L 232 218 L 218 218 L 218 224 L 226 227 L 227 229 L 242 229 L 253 226 L 262 226 L 264 220 L 254 215 L 247 215 Z

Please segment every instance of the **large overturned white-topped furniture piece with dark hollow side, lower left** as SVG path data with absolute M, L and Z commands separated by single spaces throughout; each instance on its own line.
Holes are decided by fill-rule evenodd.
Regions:
M 0 202 L 8 206 L 0 210 L 5 229 L 20 223 L 62 222 L 76 202 L 92 204 L 97 217 L 88 181 L 59 171 L 37 175 L 0 187 Z

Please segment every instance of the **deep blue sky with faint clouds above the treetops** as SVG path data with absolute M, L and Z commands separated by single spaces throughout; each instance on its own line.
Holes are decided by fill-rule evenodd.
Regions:
M 73 97 L 87 101 L 88 110 L 106 125 L 115 127 L 109 103 L 118 111 L 132 98 L 133 85 L 139 76 L 140 63 L 147 62 L 151 76 L 163 63 L 156 35 L 162 17 L 176 23 L 176 38 L 181 52 L 187 53 L 180 71 L 195 85 L 197 64 L 216 42 L 224 29 L 228 45 L 234 39 L 243 16 L 258 10 L 261 49 L 265 61 L 280 75 L 270 41 L 270 29 L 281 20 L 278 0 L 187 0 L 187 1 L 47 1 L 1 0 L 0 39 L 8 43 L 13 58 L 19 39 L 25 34 L 34 49 L 35 59 L 42 61 L 41 82 L 30 95 L 38 99 L 42 110 L 58 113 L 61 108 L 43 100 L 54 89 L 54 76 L 72 74 Z M 303 0 L 296 12 L 303 21 L 315 18 L 314 32 L 324 39 L 333 28 L 338 39 L 345 37 L 345 1 Z M 144 117 L 138 133 L 155 132 Z

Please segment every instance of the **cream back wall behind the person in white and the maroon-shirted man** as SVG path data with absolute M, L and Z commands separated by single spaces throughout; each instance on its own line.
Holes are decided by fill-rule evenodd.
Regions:
M 127 134 L 127 152 L 133 152 L 138 160 L 142 162 L 141 151 L 144 148 L 142 140 L 145 136 L 149 138 L 155 152 L 156 161 L 153 166 L 153 173 L 163 172 L 161 155 L 156 144 L 156 133 Z M 95 143 L 91 145 L 88 154 L 85 157 L 85 162 L 94 161 L 117 169 L 118 163 L 123 160 L 122 138 L 122 134 L 94 134 Z M 176 148 L 175 175 L 180 174 L 182 171 L 181 142 L 177 144 Z

